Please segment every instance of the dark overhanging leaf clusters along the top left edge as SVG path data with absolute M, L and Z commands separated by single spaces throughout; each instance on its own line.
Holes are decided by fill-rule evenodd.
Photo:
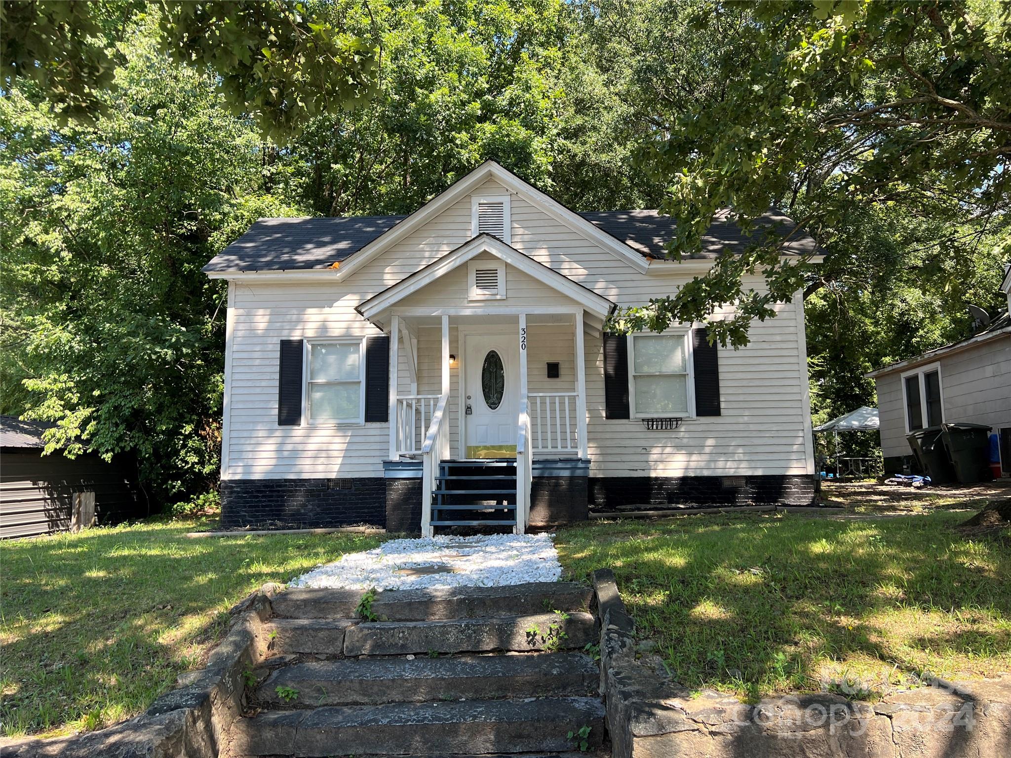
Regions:
M 252 113 L 274 139 L 284 141 L 316 113 L 354 107 L 373 92 L 378 53 L 367 30 L 344 30 L 340 12 L 324 18 L 297 0 L 163 0 L 160 6 L 162 51 L 209 68 L 228 108 Z M 93 123 L 108 112 L 105 93 L 117 86 L 114 44 L 122 19 L 140 7 L 108 0 L 3 0 L 4 89 L 30 79 L 62 123 Z

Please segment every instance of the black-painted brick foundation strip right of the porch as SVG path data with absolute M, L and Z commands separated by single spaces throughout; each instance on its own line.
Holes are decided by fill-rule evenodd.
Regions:
M 590 477 L 590 511 L 713 505 L 812 505 L 814 476 Z

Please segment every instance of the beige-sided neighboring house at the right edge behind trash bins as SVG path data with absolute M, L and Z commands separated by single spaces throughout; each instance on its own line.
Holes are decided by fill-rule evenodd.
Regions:
M 1011 310 L 1011 267 L 1001 290 Z M 915 467 L 906 435 L 939 423 L 985 423 L 1000 438 L 1011 475 L 1011 316 L 1004 311 L 968 340 L 867 374 L 878 385 L 886 473 Z

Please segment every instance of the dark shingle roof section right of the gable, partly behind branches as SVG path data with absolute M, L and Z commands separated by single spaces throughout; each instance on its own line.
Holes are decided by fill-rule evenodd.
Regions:
M 606 210 L 579 215 L 649 258 L 666 256 L 666 244 L 673 238 L 677 226 L 677 221 L 671 216 L 661 215 L 655 210 Z M 758 224 L 776 224 L 780 234 L 789 234 L 797 227 L 793 220 L 778 211 L 765 213 Z M 760 228 L 756 233 L 760 235 Z M 713 218 L 709 232 L 702 239 L 702 250 L 684 258 L 713 259 L 719 257 L 724 249 L 729 249 L 731 253 L 741 253 L 755 240 L 755 235 L 745 234 L 731 220 L 730 211 L 720 211 Z M 786 252 L 794 255 L 814 253 L 816 248 L 815 241 L 803 232 L 785 246 Z

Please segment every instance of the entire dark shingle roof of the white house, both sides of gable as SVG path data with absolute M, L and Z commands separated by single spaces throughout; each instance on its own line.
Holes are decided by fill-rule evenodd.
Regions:
M 579 215 L 647 258 L 664 257 L 664 246 L 676 225 L 673 218 L 655 210 L 606 210 Z M 325 269 L 344 261 L 403 218 L 405 216 L 261 218 L 214 256 L 203 270 Z M 782 224 L 780 233 L 792 231 L 796 225 L 787 216 L 773 211 L 762 216 L 761 222 Z M 716 258 L 724 249 L 739 253 L 753 240 L 730 220 L 729 212 L 722 212 L 713 219 L 709 233 L 703 238 L 702 251 L 692 258 Z M 786 249 L 789 253 L 803 255 L 816 248 L 815 241 L 802 233 Z

